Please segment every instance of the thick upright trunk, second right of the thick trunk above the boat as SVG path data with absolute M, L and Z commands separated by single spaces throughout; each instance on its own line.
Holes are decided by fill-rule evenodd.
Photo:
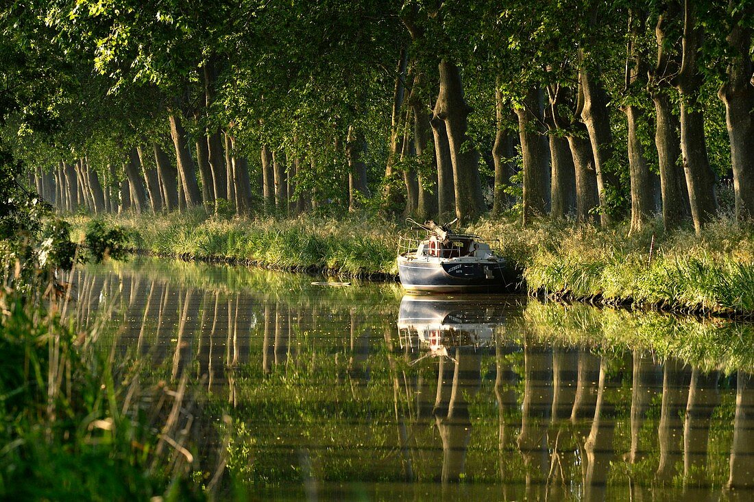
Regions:
M 519 119 L 523 156 L 523 224 L 547 214 L 550 199 L 550 166 L 544 140 L 542 92 L 529 88 L 522 106 L 515 109 Z

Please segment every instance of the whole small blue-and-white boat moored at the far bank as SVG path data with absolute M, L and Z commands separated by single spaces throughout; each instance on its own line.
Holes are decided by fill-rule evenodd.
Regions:
M 408 291 L 433 293 L 497 293 L 514 291 L 516 273 L 495 252 L 498 241 L 467 233 L 432 221 L 416 223 L 425 238 L 401 237 L 398 276 Z

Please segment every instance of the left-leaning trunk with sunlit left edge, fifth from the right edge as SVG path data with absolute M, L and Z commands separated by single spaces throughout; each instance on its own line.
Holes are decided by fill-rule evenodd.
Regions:
M 607 95 L 593 77 L 582 68 L 579 71 L 579 83 L 584 93 L 584 108 L 581 109 L 581 119 L 587 126 L 589 140 L 592 144 L 594 169 L 597 176 L 597 192 L 599 195 L 599 220 L 602 226 L 613 222 L 611 208 L 608 208 L 608 192 L 619 192 L 620 186 L 615 174 L 608 171 L 608 164 L 613 157 L 612 132 L 610 129 L 610 115 L 607 108 Z

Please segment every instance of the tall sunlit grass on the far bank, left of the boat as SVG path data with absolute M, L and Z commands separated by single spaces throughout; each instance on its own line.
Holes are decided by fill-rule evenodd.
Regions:
M 385 221 L 228 220 L 203 211 L 109 218 L 131 230 L 133 248 L 161 256 L 318 269 L 349 277 L 397 273 L 397 229 Z M 72 221 L 82 228 L 86 219 Z

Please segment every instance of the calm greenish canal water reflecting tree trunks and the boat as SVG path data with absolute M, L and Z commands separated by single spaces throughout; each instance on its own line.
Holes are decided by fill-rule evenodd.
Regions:
M 327 281 L 133 259 L 69 315 L 222 499 L 754 500 L 750 325 Z

